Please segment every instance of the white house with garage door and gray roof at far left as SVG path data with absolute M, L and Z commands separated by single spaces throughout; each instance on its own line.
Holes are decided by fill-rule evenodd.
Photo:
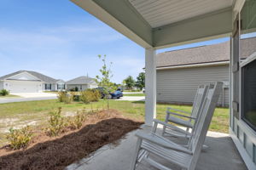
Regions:
M 0 89 L 10 93 L 38 93 L 65 89 L 65 82 L 47 77 L 36 71 L 16 71 L 0 77 Z

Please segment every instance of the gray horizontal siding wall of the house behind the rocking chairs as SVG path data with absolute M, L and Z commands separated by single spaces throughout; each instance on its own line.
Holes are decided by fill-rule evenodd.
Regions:
M 229 65 L 157 70 L 157 101 L 192 104 L 198 85 L 229 81 Z M 223 95 L 218 100 L 222 104 Z M 224 105 L 229 105 L 229 88 L 224 88 Z

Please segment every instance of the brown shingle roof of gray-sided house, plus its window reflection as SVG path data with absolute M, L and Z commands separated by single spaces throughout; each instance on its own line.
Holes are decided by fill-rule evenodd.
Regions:
M 255 52 L 256 37 L 241 39 L 241 58 Z M 156 66 L 199 65 L 230 60 L 230 41 L 157 54 Z

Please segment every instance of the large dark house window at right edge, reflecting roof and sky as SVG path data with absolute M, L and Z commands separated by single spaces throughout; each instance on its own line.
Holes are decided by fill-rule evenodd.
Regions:
M 241 9 L 241 119 L 256 131 L 256 1 Z

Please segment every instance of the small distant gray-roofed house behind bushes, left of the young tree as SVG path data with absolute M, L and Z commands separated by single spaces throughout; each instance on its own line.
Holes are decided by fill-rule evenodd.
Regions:
M 79 91 L 84 91 L 87 88 L 97 88 L 98 85 L 94 78 L 77 77 L 66 82 L 67 90 L 78 88 Z

